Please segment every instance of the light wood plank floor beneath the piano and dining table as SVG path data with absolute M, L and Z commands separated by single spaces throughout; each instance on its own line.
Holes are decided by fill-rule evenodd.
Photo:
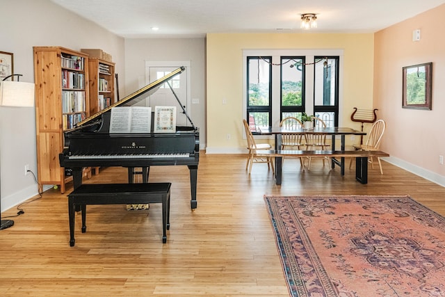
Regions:
M 151 168 L 151 182 L 172 182 L 170 231 L 161 240 L 161 205 L 125 211 L 88 206 L 87 232 L 76 216 L 69 245 L 67 193 L 46 191 L 25 204 L 15 225 L 0 231 L 1 296 L 289 296 L 264 195 L 411 195 L 445 215 L 445 188 L 389 163 L 370 170 L 301 171 L 284 161 L 282 186 L 266 164 L 245 172 L 245 155 L 200 155 L 197 209 L 190 209 L 186 166 Z M 101 168 L 84 183 L 127 182 L 124 168 Z M 9 209 L 2 216 L 13 215 Z

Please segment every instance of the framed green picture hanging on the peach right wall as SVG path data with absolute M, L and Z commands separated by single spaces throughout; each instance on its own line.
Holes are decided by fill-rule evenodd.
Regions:
M 403 67 L 403 109 L 432 109 L 432 63 Z

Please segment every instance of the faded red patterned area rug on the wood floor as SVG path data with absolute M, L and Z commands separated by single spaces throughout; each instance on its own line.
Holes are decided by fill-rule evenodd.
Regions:
M 409 196 L 265 196 L 291 296 L 445 296 L 445 218 Z

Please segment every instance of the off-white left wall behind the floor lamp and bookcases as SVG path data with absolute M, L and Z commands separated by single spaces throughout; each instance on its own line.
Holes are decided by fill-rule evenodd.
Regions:
M 0 0 L 0 10 L 0 51 L 14 54 L 14 72 L 23 74 L 20 81 L 34 82 L 33 46 L 103 49 L 125 81 L 123 38 L 49 0 Z M 37 174 L 35 152 L 35 109 L 0 107 L 2 211 L 38 193 L 32 175 L 24 175 L 25 164 Z

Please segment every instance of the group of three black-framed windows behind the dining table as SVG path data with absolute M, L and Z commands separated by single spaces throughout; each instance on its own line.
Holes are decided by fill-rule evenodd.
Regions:
M 267 52 L 267 51 L 266 51 Z M 302 113 L 339 125 L 340 56 L 245 55 L 245 115 L 250 127 L 270 127 Z

